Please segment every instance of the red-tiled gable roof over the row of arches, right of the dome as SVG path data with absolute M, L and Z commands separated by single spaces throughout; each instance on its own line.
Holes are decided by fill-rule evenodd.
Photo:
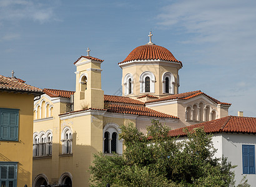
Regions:
M 162 98 L 155 99 L 155 100 L 150 100 L 150 101 L 147 101 L 145 103 L 155 103 L 155 102 L 162 102 L 162 101 L 175 100 L 175 99 L 187 100 L 189 98 L 193 98 L 193 97 L 196 97 L 198 95 L 205 95 L 206 97 L 210 98 L 210 100 L 212 100 L 212 101 L 214 101 L 215 103 L 218 103 L 218 104 L 231 105 L 231 103 L 220 102 L 219 100 L 210 97 L 209 95 L 205 94 L 204 92 L 201 92 L 200 90 L 193 91 L 193 92 L 179 93 L 179 94 L 174 94 L 174 95 L 168 95 L 166 97 L 162 97 Z

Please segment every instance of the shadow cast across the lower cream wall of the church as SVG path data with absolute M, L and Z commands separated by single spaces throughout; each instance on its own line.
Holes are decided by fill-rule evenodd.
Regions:
M 32 187 L 89 186 L 89 166 L 97 151 L 90 145 L 78 145 L 77 140 L 77 133 L 73 133 L 71 153 L 62 153 L 62 143 L 52 143 L 51 156 L 33 159 Z

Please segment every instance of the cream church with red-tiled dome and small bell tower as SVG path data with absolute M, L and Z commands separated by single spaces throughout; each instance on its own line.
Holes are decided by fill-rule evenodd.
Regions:
M 122 96 L 104 95 L 104 60 L 88 49 L 74 62 L 75 91 L 44 89 L 34 100 L 33 187 L 89 186 L 94 153 L 122 154 L 120 125 L 145 133 L 152 119 L 176 129 L 228 115 L 230 103 L 200 90 L 179 93 L 182 62 L 151 37 L 118 63 Z

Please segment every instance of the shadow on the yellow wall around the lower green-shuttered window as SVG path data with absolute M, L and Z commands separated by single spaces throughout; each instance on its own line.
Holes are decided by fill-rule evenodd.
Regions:
M 32 159 L 32 158 L 31 158 Z M 1 161 L 15 161 L 15 160 L 9 160 L 6 156 L 2 155 L 0 153 L 0 160 Z M 17 182 L 20 186 L 30 185 L 31 181 L 31 173 L 27 170 L 24 170 L 23 165 L 21 163 L 17 163 Z

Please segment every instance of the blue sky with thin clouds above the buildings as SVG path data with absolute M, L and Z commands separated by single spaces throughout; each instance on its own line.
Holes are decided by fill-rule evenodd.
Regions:
M 75 89 L 73 62 L 104 59 L 102 89 L 121 89 L 117 65 L 152 41 L 184 65 L 180 92 L 202 90 L 256 117 L 256 1 L 0 0 L 0 75 L 40 88 Z

